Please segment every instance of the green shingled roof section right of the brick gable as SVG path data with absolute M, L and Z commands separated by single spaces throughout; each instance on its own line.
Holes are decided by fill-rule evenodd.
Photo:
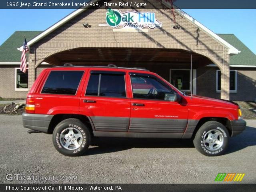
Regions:
M 217 34 L 226 42 L 237 48 L 240 53 L 230 56 L 230 65 L 256 65 L 256 55 L 234 34 Z

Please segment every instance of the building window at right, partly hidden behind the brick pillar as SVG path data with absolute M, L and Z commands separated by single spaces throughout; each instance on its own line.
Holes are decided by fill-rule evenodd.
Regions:
M 236 93 L 236 78 L 237 78 L 237 72 L 236 70 L 230 70 L 230 76 L 229 76 L 229 90 L 232 93 Z M 221 72 L 220 70 L 216 71 L 216 84 L 217 84 L 217 92 L 220 92 L 221 88 Z

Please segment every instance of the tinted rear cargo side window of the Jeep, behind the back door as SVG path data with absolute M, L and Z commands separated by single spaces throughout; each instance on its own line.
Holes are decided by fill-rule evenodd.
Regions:
M 83 71 L 52 71 L 41 93 L 75 95 Z

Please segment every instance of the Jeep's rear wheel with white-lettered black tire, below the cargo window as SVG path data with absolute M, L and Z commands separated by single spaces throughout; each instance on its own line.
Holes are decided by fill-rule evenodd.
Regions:
M 73 135 L 71 134 L 72 136 L 69 134 L 70 130 L 74 133 Z M 60 138 L 61 136 L 65 136 L 65 138 Z M 72 137 L 72 139 L 68 142 L 68 140 L 66 140 L 67 137 Z M 61 154 L 66 156 L 80 156 L 85 154 L 90 146 L 91 132 L 79 119 L 69 118 L 61 121 L 55 127 L 52 140 L 54 147 Z M 67 146 L 64 146 L 65 144 L 67 144 Z

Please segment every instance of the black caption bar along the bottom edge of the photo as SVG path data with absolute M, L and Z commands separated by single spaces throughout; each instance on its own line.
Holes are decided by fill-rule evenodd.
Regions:
M 255 192 L 256 184 L 0 184 L 1 192 Z

